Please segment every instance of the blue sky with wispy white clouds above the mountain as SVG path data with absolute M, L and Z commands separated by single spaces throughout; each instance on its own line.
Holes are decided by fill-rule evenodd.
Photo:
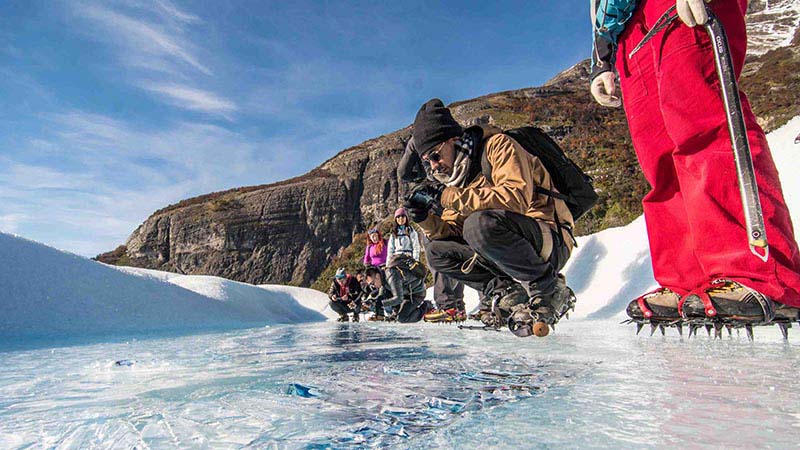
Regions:
M 586 0 L 0 2 L 0 230 L 94 256 L 590 52 Z

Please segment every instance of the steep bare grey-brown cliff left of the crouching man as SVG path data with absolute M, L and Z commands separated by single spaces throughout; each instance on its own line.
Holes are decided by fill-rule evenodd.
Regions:
M 300 178 L 164 208 L 123 249 L 98 259 L 255 284 L 308 285 L 350 244 L 352 233 L 396 204 L 393 170 L 403 134 L 348 149 Z

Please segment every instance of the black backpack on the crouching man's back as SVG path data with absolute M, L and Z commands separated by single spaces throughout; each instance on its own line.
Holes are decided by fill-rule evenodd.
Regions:
M 567 158 L 564 150 L 547 133 L 536 127 L 521 127 L 505 131 L 504 134 L 512 137 L 528 153 L 542 161 L 553 180 L 553 186 L 558 190 L 554 192 L 536 186 L 537 193 L 564 200 L 574 220 L 578 220 L 597 203 L 592 177 L 583 173 L 580 167 Z M 492 167 L 485 153 L 481 157 L 481 173 L 492 182 Z

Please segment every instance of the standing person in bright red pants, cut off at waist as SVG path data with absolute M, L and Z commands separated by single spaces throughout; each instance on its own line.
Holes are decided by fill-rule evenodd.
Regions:
M 599 0 L 591 93 L 604 106 L 624 98 L 631 139 L 652 190 L 643 199 L 660 287 L 631 302 L 634 319 L 795 320 L 800 253 L 764 131 L 740 92 L 764 213 L 769 258 L 748 247 L 744 212 L 702 0 Z M 659 18 L 680 20 L 630 56 Z M 738 78 L 747 47 L 747 0 L 714 0 Z M 652 316 L 651 316 L 652 314 Z

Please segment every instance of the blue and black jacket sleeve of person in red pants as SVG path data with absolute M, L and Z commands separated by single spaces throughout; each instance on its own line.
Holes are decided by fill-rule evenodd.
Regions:
M 592 79 L 614 70 L 617 39 L 625 23 L 636 10 L 635 0 L 591 0 L 594 46 L 592 48 Z

